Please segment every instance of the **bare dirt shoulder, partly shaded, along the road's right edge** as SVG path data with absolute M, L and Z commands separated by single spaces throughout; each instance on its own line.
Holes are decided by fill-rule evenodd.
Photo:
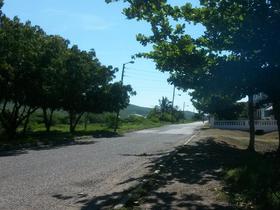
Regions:
M 256 149 L 267 153 L 276 150 L 277 143 L 276 134 L 258 136 Z M 232 201 L 232 189 L 225 183 L 227 169 L 245 158 L 247 145 L 247 132 L 201 130 L 188 145 L 154 161 L 151 174 L 127 192 L 124 209 L 253 208 L 250 201 L 247 206 Z

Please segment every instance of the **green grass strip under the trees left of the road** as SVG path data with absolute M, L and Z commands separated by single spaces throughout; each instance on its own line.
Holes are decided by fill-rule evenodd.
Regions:
M 69 133 L 69 125 L 67 124 L 56 124 L 51 128 L 51 132 L 47 133 L 43 124 L 36 123 L 29 127 L 29 131 L 25 136 L 19 136 L 13 142 L 0 141 L 0 151 L 93 143 L 94 140 L 92 140 L 92 137 L 116 137 L 127 132 L 156 128 L 168 124 L 170 123 L 161 121 L 154 122 L 148 119 L 123 121 L 117 133 L 113 132 L 113 129 L 108 128 L 108 125 L 104 123 L 88 124 L 86 128 L 83 124 L 79 124 L 77 125 L 76 132 L 71 134 Z

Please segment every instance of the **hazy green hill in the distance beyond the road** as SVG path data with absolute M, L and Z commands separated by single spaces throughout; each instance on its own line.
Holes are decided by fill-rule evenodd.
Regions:
M 121 111 L 120 115 L 122 118 L 126 118 L 129 115 L 133 115 L 133 114 L 147 116 L 151 110 L 152 110 L 152 108 L 141 107 L 141 106 L 136 106 L 136 105 L 130 104 L 126 109 Z M 186 119 L 191 119 L 193 117 L 193 115 L 194 115 L 193 112 L 185 111 Z

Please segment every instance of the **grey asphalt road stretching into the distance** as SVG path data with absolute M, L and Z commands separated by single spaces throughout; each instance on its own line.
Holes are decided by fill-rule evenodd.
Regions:
M 133 184 L 125 181 L 145 173 L 152 158 L 184 144 L 201 125 L 169 125 L 0 157 L 0 209 L 80 209 Z

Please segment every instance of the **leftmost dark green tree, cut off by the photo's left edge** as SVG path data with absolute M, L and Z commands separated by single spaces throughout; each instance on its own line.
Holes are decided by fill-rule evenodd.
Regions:
M 37 107 L 38 60 L 44 32 L 30 22 L 1 17 L 0 28 L 0 121 L 10 139 Z

